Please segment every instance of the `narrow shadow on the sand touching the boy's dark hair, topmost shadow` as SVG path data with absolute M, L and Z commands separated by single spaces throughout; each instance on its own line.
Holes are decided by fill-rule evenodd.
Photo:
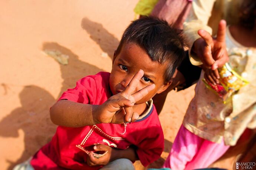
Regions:
M 81 27 L 90 34 L 90 38 L 101 47 L 102 51 L 113 59 L 114 50 L 119 44 L 119 40 L 106 30 L 102 24 L 95 23 L 88 18 L 83 18 Z M 114 49 L 114 50 L 113 50 Z

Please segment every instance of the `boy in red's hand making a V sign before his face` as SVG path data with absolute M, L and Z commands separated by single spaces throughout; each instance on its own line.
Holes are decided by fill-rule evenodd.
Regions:
M 155 88 L 155 84 L 148 85 L 134 93 L 144 71 L 140 69 L 127 87 L 121 93 L 111 96 L 95 110 L 95 116 L 100 123 L 124 123 L 134 122 L 138 119 L 138 113 L 134 113 L 132 106 Z

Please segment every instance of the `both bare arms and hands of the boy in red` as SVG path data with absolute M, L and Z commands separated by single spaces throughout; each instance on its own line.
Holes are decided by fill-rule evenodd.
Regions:
M 142 70 L 138 71 L 124 91 L 111 96 L 102 105 L 86 105 L 68 100 L 56 102 L 50 109 L 52 121 L 69 127 L 81 127 L 82 125 L 95 125 L 98 123 L 124 123 L 125 112 L 120 112 L 119 110 L 124 107 L 134 106 L 136 101 L 142 99 L 155 87 L 153 84 L 132 93 L 132 89 L 137 87 L 138 81 L 140 81 L 143 74 Z M 138 115 L 135 114 L 135 116 Z M 133 121 L 135 121 L 135 118 L 132 117 L 130 122 Z M 95 151 L 108 151 L 108 153 L 100 158 L 94 157 L 93 152 L 89 153 L 87 157 L 89 166 L 106 165 L 119 158 L 127 158 L 131 161 L 139 160 L 135 149 L 132 147 L 126 150 L 115 149 L 107 145 L 95 145 L 94 147 L 96 147 Z

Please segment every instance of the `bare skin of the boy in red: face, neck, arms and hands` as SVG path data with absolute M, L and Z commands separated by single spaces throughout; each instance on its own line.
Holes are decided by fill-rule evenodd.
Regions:
M 119 54 L 114 54 L 113 60 L 109 78 L 113 96 L 102 105 L 58 101 L 50 109 L 53 123 L 81 127 L 98 123 L 134 122 L 147 109 L 145 102 L 171 84 L 171 81 L 165 82 L 163 77 L 166 64 L 152 61 L 137 44 L 124 44 Z M 139 160 L 133 147 L 121 150 L 107 145 L 95 145 L 94 150 L 107 153 L 99 158 L 94 157 L 93 152 L 89 153 L 89 166 L 106 165 L 120 158 Z

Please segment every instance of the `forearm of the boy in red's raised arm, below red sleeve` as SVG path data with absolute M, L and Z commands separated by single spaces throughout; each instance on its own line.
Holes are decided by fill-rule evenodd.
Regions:
M 50 109 L 50 118 L 56 125 L 78 128 L 99 123 L 95 114 L 98 105 L 87 105 L 60 100 Z

